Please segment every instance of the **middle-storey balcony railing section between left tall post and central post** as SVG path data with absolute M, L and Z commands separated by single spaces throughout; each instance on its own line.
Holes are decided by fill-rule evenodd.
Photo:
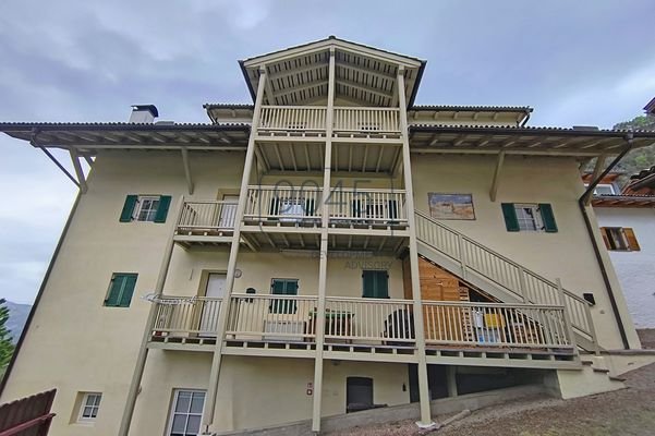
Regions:
M 244 221 L 299 223 L 320 221 L 316 186 L 248 186 Z

